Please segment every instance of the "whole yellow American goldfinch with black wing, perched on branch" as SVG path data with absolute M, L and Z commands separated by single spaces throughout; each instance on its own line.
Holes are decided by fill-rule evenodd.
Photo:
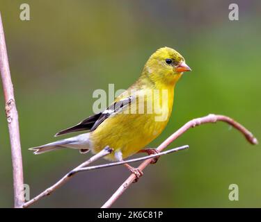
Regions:
M 35 154 L 61 148 L 98 153 L 109 146 L 113 151 L 105 158 L 111 161 L 121 161 L 138 152 L 155 153 L 143 148 L 166 127 L 171 117 L 175 85 L 184 71 L 191 69 L 180 53 L 168 47 L 158 49 L 145 63 L 136 83 L 104 112 L 94 114 L 56 136 L 81 130 L 88 130 L 88 133 L 30 149 Z M 137 178 L 142 175 L 129 165 L 127 167 Z

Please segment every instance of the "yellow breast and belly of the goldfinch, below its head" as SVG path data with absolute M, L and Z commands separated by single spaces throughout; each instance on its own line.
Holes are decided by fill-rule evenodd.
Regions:
M 115 151 L 121 151 L 122 157 L 126 158 L 144 148 L 164 130 L 171 116 L 174 87 L 143 89 L 135 96 L 138 99 L 125 112 L 109 117 L 90 133 L 94 153 L 110 146 L 113 153 L 106 159 L 115 160 Z

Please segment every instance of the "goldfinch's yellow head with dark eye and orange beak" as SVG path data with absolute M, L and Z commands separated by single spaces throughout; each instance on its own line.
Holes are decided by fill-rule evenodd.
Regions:
M 150 56 L 143 69 L 143 74 L 154 83 L 175 85 L 184 71 L 191 71 L 191 69 L 180 53 L 164 47 Z

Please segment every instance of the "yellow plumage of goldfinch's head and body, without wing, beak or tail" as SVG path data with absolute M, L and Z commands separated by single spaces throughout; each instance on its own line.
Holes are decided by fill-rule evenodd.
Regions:
M 145 64 L 139 80 L 129 87 L 125 94 L 136 96 L 132 95 L 131 92 L 134 89 L 139 96 L 149 95 L 148 97 L 145 96 L 144 106 L 146 107 L 147 101 L 152 101 L 152 107 L 154 107 L 156 101 L 162 104 L 163 94 L 161 91 L 165 89 L 168 92 L 168 106 L 162 108 L 160 114 L 155 114 L 154 112 L 152 114 L 139 114 L 139 105 L 136 104 L 137 114 L 116 114 L 106 119 L 96 130 L 90 133 L 90 140 L 93 142 L 93 152 L 97 153 L 104 146 L 110 146 L 114 151 L 111 155 L 106 156 L 106 159 L 116 160 L 116 151 L 121 151 L 122 157 L 126 158 L 137 153 L 161 134 L 171 116 L 175 83 L 182 75 L 181 72 L 176 73 L 175 68 L 171 67 L 169 69 L 168 65 L 165 65 L 167 58 L 171 58 L 177 63 L 184 60 L 173 49 L 167 47 L 159 49 L 152 54 Z M 159 89 L 159 99 L 155 99 L 151 95 L 153 92 L 157 92 L 155 89 Z M 125 96 L 119 96 L 116 101 L 124 98 Z M 134 104 L 129 106 L 129 110 L 132 109 L 132 106 Z M 155 116 L 166 116 L 166 120 L 155 121 Z

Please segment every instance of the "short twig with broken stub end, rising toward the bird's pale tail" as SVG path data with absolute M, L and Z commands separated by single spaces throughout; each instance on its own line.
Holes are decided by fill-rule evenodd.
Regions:
M 75 171 L 79 170 L 81 167 L 86 167 L 88 164 L 91 164 L 92 162 L 95 162 L 96 160 L 104 157 L 105 155 L 108 155 L 109 153 L 111 153 L 111 151 L 112 151 L 112 149 L 109 148 L 109 146 L 106 146 L 102 151 L 100 151 L 100 153 L 97 153 L 96 155 L 93 155 L 93 157 L 90 157 L 89 160 L 87 160 L 86 162 L 80 164 L 78 167 L 74 168 L 72 171 L 70 171 L 65 176 L 63 176 L 63 178 L 61 178 L 61 180 L 58 180 L 58 182 L 56 182 L 54 185 L 52 185 L 51 187 L 45 189 L 45 191 L 42 191 L 42 193 L 40 193 L 38 196 L 35 196 L 35 198 L 33 198 L 33 199 L 29 200 L 28 202 L 24 203 L 24 205 L 22 207 L 24 207 L 24 208 L 29 207 L 30 205 L 32 205 L 36 201 L 40 200 L 40 198 L 43 198 L 45 196 L 48 196 L 48 195 L 52 194 L 53 191 L 55 191 L 56 189 L 61 187 L 61 185 L 63 185 L 65 182 L 70 180 L 70 178 L 72 178 L 72 176 L 75 175 Z

